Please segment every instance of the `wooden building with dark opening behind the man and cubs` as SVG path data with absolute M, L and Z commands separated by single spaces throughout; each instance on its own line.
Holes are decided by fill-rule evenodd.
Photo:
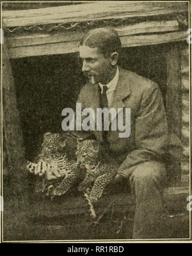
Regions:
M 90 29 L 102 26 L 111 26 L 120 35 L 120 65 L 159 84 L 170 136 L 178 149 L 177 161 L 170 164 L 164 200 L 171 212 L 184 212 L 190 176 L 188 2 L 3 3 L 3 174 L 9 184 L 4 190 L 10 186 L 16 195 L 28 190 L 28 175 L 22 169 L 24 160 L 35 155 L 42 134 L 61 131 L 61 110 L 75 106 L 85 82 L 77 54 L 79 41 Z M 43 218 L 63 223 L 63 219 L 75 215 L 71 218 L 78 222 L 77 215 L 84 213 L 79 196 L 30 202 L 33 209 L 28 208 L 28 213 L 33 221 Z M 108 212 L 110 202 L 114 213 L 134 205 L 132 201 L 127 204 L 127 192 L 120 191 L 104 197 L 98 212 Z M 69 232 L 70 225 L 67 229 L 58 223 L 47 229 L 51 234 L 44 235 L 45 239 L 54 239 L 56 232 Z M 8 230 L 6 239 L 17 239 Z M 34 239 L 43 239 L 40 233 L 33 235 Z M 19 239 L 22 235 L 18 235 Z M 185 229 L 182 237 L 188 235 Z M 30 235 L 27 237 L 30 239 Z M 77 235 L 58 237 L 78 239 Z M 117 234 L 112 238 L 122 239 Z

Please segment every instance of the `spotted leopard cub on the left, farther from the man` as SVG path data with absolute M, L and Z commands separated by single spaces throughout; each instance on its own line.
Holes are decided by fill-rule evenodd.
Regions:
M 42 189 L 40 190 L 42 190 L 42 192 L 46 190 L 47 194 L 51 194 L 51 191 L 56 187 L 56 184 L 63 182 L 63 179 L 65 179 L 65 186 L 62 187 L 62 192 L 67 192 L 74 183 L 74 176 L 76 177 L 79 174 L 76 167 L 76 161 L 68 160 L 65 140 L 63 139 L 62 134 L 58 133 L 45 133 L 44 142 L 42 143 L 42 151 L 37 157 L 37 163 L 28 161 L 26 165 L 26 169 L 28 169 L 29 172 L 37 176 L 42 176 L 42 179 L 40 180 Z M 56 170 L 61 178 L 57 179 L 57 183 L 54 181 L 50 184 L 50 181 L 47 182 L 47 179 L 45 178 L 45 172 L 49 173 L 53 170 Z M 71 175 L 71 173 L 73 175 Z M 56 188 L 54 194 L 61 194 L 58 187 Z

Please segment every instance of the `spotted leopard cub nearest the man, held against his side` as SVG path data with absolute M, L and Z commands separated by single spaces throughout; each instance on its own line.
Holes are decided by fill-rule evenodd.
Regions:
M 81 168 L 86 169 L 86 176 L 77 189 L 87 191 L 91 187 L 91 203 L 102 196 L 104 189 L 115 178 L 119 167 L 112 158 L 100 157 L 100 151 L 101 147 L 96 140 L 79 140 L 77 143 L 77 162 Z

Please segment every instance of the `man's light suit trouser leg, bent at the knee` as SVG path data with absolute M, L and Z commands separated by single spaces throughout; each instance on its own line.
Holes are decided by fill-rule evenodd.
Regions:
M 166 169 L 161 162 L 147 161 L 132 167 L 129 185 L 136 200 L 133 239 L 161 238 L 165 179 Z

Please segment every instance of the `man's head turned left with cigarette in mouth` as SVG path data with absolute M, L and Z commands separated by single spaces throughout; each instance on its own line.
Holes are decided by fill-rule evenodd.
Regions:
M 114 76 L 120 48 L 120 38 L 115 30 L 96 28 L 88 32 L 79 46 L 84 75 L 90 79 L 94 77 L 95 82 L 107 84 Z

